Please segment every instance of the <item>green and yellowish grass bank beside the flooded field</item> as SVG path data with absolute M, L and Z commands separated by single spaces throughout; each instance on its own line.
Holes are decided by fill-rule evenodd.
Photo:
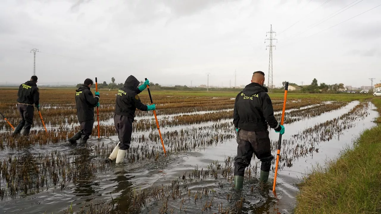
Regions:
M 381 115 L 381 99 L 372 102 Z M 377 118 L 381 122 L 381 117 Z M 300 184 L 295 214 L 381 213 L 381 125 L 364 131 L 353 149 Z

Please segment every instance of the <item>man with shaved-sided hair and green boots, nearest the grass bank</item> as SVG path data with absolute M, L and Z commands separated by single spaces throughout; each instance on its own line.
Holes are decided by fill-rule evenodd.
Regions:
M 268 126 L 284 134 L 284 126 L 274 117 L 274 110 L 267 88 L 263 87 L 264 73 L 253 73 L 251 83 L 237 94 L 234 103 L 233 123 L 237 131 L 237 157 L 234 159 L 234 186 L 241 189 L 245 168 L 253 153 L 261 160 L 260 181 L 267 182 L 271 168 L 270 138 Z

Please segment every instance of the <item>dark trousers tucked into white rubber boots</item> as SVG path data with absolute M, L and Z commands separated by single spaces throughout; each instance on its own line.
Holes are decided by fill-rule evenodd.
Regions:
M 133 121 L 134 119 L 127 116 L 114 114 L 115 129 L 120 141 L 119 149 L 130 149 Z

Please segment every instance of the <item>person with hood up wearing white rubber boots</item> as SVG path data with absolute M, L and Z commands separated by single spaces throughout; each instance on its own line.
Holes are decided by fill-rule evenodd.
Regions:
M 135 110 L 155 110 L 155 104 L 145 105 L 140 101 L 138 96 L 139 93 L 147 88 L 149 80 L 146 80 L 139 88 L 138 85 L 139 81 L 131 75 L 126 79 L 123 88 L 118 90 L 115 102 L 114 124 L 118 133 L 119 143 L 110 154 L 109 161 L 115 160 L 115 163 L 123 162 L 126 150 L 130 149 Z

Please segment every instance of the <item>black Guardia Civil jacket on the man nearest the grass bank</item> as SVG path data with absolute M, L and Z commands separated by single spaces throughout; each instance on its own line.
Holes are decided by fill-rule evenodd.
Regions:
M 264 131 L 267 125 L 275 131 L 281 129 L 267 88 L 258 83 L 250 83 L 235 97 L 233 118 L 235 128 L 246 131 Z

